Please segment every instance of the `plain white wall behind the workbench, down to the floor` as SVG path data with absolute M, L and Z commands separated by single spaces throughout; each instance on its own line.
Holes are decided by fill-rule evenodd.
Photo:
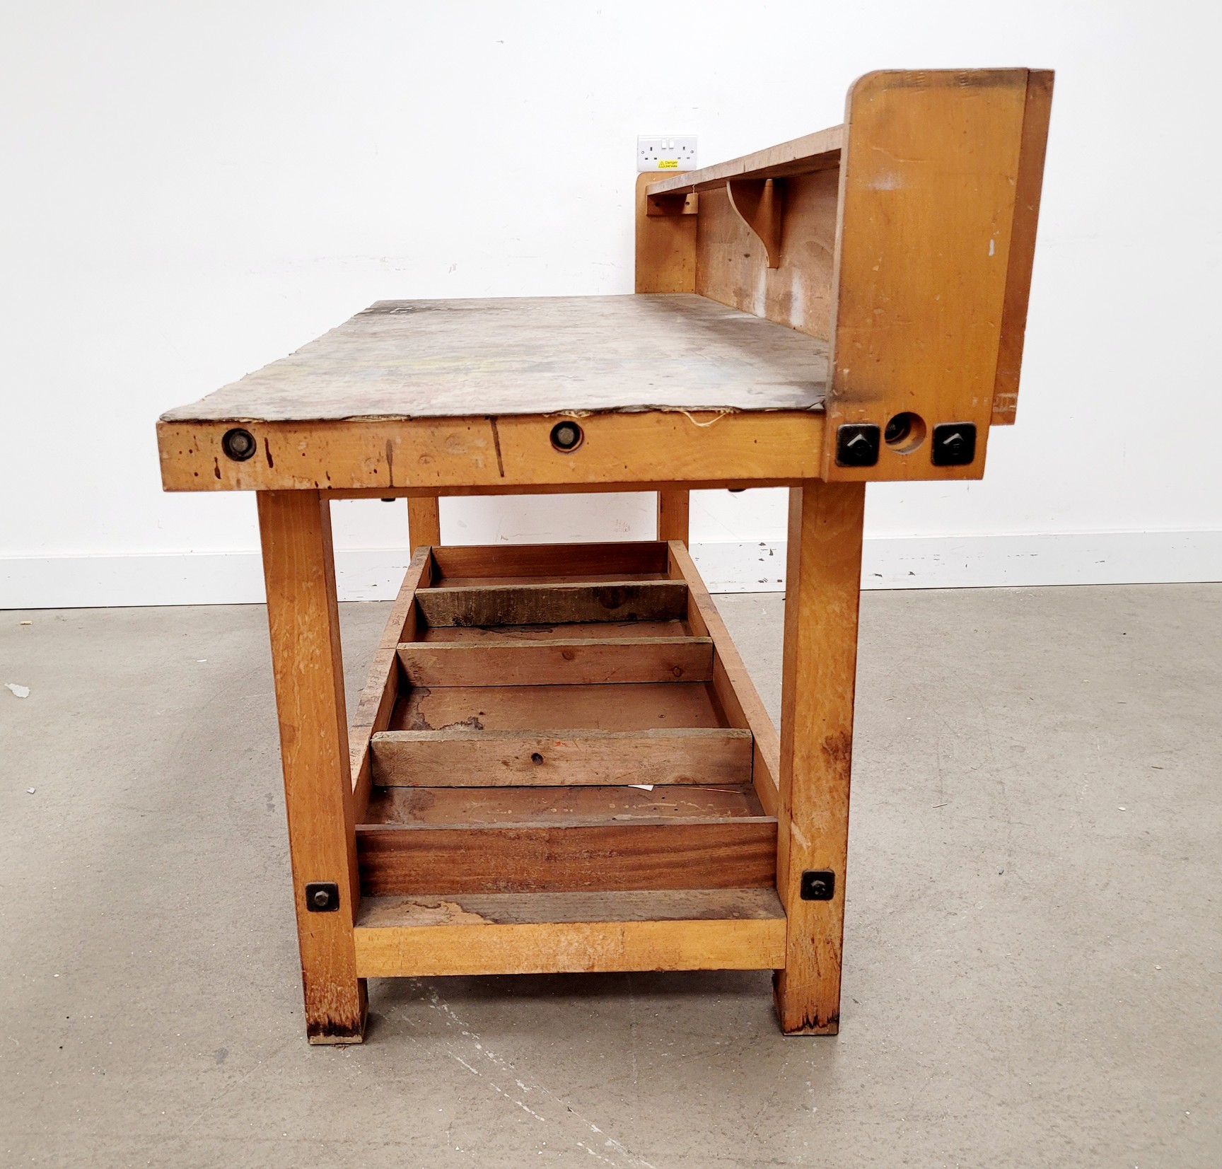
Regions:
M 628 292 L 638 132 L 712 162 L 893 66 L 1057 84 L 1019 424 L 981 484 L 870 489 L 866 583 L 1218 579 L 1217 13 L 5 0 L 0 605 L 257 597 L 253 500 L 164 495 L 158 413 L 380 297 Z M 347 595 L 390 586 L 403 511 L 337 507 Z M 783 511 L 697 497 L 714 586 L 778 586 Z M 457 542 L 653 535 L 644 497 L 442 514 Z

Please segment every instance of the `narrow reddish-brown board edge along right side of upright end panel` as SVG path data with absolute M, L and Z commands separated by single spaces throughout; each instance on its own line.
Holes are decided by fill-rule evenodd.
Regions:
M 1052 70 L 1031 70 L 1026 75 L 1023 144 L 1018 158 L 1018 183 L 1014 192 L 1014 226 L 1009 237 L 1006 303 L 1002 309 L 1001 340 L 997 346 L 997 377 L 993 382 L 995 426 L 1012 424 L 1018 410 L 1018 379 L 1023 366 L 1026 305 L 1031 296 L 1031 268 L 1035 263 L 1035 228 L 1040 219 L 1044 155 L 1048 144 L 1048 118 L 1052 114 Z

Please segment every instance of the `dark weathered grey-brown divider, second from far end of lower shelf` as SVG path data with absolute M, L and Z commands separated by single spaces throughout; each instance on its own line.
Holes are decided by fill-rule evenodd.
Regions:
M 687 588 L 675 580 L 464 585 L 422 589 L 415 594 L 415 603 L 430 625 L 672 621 L 687 610 Z

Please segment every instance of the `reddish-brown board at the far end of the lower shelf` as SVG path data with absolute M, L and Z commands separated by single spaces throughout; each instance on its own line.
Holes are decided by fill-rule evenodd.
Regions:
M 659 540 L 622 544 L 492 544 L 435 547 L 436 584 L 473 577 L 576 577 L 666 572 Z

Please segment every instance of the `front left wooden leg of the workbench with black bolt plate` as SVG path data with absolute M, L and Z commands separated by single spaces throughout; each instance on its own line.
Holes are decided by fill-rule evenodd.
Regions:
M 260 491 L 258 498 L 306 1030 L 310 1043 L 359 1043 L 365 983 L 357 977 L 352 923 L 360 881 L 330 504 L 316 491 Z M 336 887 L 337 909 L 307 905 L 306 886 L 314 882 Z

